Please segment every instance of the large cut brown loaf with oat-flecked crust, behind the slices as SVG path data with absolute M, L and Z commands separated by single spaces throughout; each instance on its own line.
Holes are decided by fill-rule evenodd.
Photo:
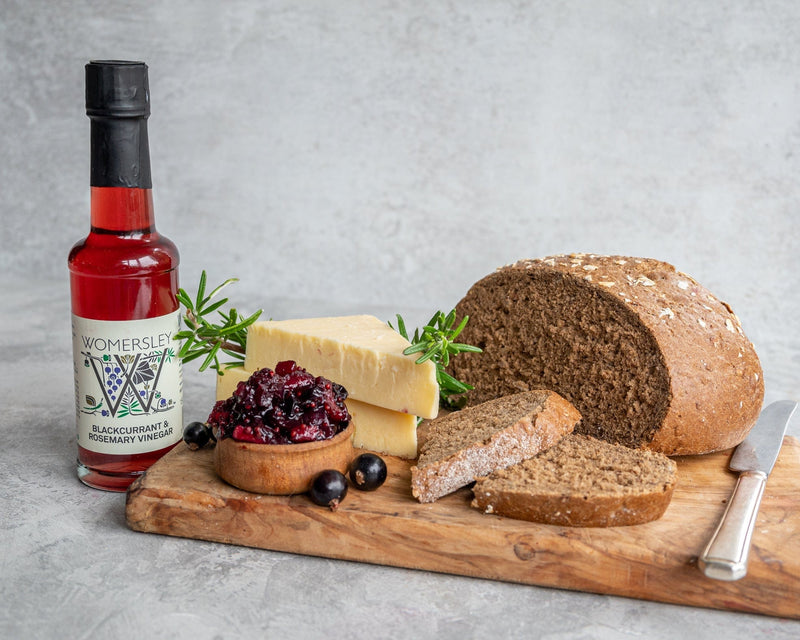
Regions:
M 470 403 L 553 389 L 580 411 L 576 432 L 667 455 L 732 447 L 755 423 L 761 366 L 730 307 L 645 258 L 523 260 L 475 283 L 456 306 L 451 362 Z

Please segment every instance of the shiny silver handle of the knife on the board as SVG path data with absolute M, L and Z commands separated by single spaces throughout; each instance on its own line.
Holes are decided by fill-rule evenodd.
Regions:
M 750 539 L 766 484 L 767 476 L 761 471 L 745 471 L 739 475 L 722 520 L 697 560 L 709 578 L 731 581 L 747 574 Z

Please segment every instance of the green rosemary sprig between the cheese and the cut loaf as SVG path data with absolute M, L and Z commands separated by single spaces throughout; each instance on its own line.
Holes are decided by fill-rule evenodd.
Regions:
M 466 382 L 461 382 L 451 376 L 445 368 L 450 364 L 450 358 L 464 353 L 482 353 L 482 350 L 471 344 L 456 342 L 458 335 L 464 330 L 469 322 L 469 316 L 464 316 L 456 328 L 453 325 L 456 321 L 456 310 L 453 309 L 445 315 L 441 311 L 433 314 L 433 317 L 422 329 L 415 329 L 414 336 L 409 338 L 406 330 L 406 323 L 400 314 L 397 314 L 397 331 L 401 336 L 411 343 L 403 353 L 412 355 L 421 353 L 416 363 L 422 364 L 426 360 L 432 360 L 436 365 L 436 381 L 439 383 L 439 402 L 448 409 L 458 409 L 464 406 L 465 397 L 454 398 L 467 391 L 471 391 L 473 386 Z M 392 323 L 388 323 L 392 327 Z M 394 327 L 392 327 L 394 329 Z

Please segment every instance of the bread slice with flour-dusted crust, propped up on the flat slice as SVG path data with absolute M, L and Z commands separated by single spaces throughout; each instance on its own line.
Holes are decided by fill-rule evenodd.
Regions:
M 532 390 L 447 414 L 430 423 L 411 467 L 411 492 L 433 502 L 497 469 L 553 446 L 580 414 L 552 391 Z

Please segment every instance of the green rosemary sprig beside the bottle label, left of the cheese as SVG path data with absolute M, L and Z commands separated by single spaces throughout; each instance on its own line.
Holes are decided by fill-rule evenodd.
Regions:
M 220 308 L 228 303 L 228 298 L 212 302 L 220 291 L 234 282 L 238 282 L 238 278 L 228 278 L 206 295 L 206 272 L 203 271 L 194 299 L 183 289 L 178 289 L 178 301 L 186 309 L 182 319 L 187 327 L 175 334 L 177 340 L 185 340 L 178 352 L 178 357 L 183 362 L 191 362 L 204 357 L 200 371 L 211 367 L 216 369 L 219 375 L 222 375 L 221 367 L 223 365 L 225 369 L 244 366 L 247 327 L 258 320 L 261 310 L 259 309 L 253 315 L 245 318 L 233 308 L 227 312 L 220 311 Z M 214 311 L 219 314 L 221 322 L 215 323 L 209 320 L 209 315 Z M 223 353 L 233 360 L 220 363 L 219 358 Z

